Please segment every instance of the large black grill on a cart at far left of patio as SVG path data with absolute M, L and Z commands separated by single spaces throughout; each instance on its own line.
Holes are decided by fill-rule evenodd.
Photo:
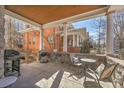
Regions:
M 15 50 L 4 51 L 4 75 L 20 75 L 20 53 Z

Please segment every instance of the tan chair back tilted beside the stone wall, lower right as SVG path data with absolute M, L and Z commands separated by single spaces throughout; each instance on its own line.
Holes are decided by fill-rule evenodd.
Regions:
M 109 67 L 105 67 L 105 69 L 103 70 L 103 72 L 100 75 L 99 80 L 106 80 L 109 79 L 112 75 L 112 73 L 114 72 L 115 68 L 117 67 L 118 64 L 112 64 Z

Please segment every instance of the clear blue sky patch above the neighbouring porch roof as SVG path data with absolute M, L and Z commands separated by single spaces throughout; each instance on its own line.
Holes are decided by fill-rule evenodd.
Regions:
M 105 16 L 103 16 L 103 17 L 105 18 Z M 98 19 L 98 18 L 99 17 L 92 18 L 89 20 L 83 20 L 83 21 L 75 22 L 75 23 L 72 23 L 72 25 L 74 26 L 75 29 L 86 27 L 87 32 L 89 32 L 89 36 L 92 36 L 95 38 L 95 37 L 97 37 L 97 31 L 93 27 L 93 24 L 94 24 L 94 19 Z

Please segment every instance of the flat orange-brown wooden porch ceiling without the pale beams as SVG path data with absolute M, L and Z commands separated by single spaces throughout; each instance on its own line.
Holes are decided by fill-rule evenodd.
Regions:
M 105 5 L 6 5 L 5 8 L 39 24 L 46 24 L 81 13 L 104 8 Z

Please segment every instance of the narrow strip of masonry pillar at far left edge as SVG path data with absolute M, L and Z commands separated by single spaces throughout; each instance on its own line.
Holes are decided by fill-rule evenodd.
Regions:
M 4 76 L 4 16 L 3 6 L 0 6 L 0 78 Z

